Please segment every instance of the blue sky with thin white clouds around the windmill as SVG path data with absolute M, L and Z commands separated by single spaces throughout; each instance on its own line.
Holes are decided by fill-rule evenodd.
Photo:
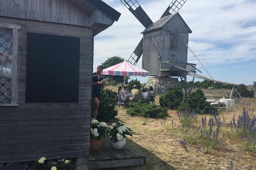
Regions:
M 107 57 L 128 59 L 144 27 L 120 0 L 103 0 L 122 15 L 94 41 L 94 69 Z M 157 21 L 172 0 L 137 0 Z M 214 79 L 250 85 L 256 81 L 256 0 L 187 0 L 179 13 L 193 31 L 189 46 Z M 188 53 L 188 62 L 199 62 Z M 141 67 L 141 59 L 137 66 Z M 146 82 L 147 77 L 137 77 Z M 196 81 L 201 81 L 196 79 Z

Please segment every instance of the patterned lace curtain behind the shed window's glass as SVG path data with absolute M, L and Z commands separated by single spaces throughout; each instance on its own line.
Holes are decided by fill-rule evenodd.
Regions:
M 0 104 L 11 103 L 12 29 L 0 28 Z

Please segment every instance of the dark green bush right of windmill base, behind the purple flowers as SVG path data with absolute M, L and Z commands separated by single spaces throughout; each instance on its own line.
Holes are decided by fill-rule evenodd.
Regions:
M 204 97 L 204 93 L 201 89 L 198 89 L 191 94 L 188 94 L 187 97 L 183 97 L 182 102 L 177 108 L 178 111 L 195 111 L 195 113 L 211 113 L 212 110 L 216 108 L 210 105 Z

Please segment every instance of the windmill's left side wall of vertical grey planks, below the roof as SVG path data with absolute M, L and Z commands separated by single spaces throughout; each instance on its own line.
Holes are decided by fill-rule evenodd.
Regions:
M 163 30 L 143 34 L 142 68 L 149 71 L 151 76 L 159 75 L 160 62 L 158 57 L 163 55 Z

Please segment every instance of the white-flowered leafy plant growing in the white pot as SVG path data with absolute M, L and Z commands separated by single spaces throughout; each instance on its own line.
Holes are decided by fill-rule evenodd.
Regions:
M 132 136 L 130 133 L 132 131 L 131 127 L 125 126 L 122 122 L 113 123 L 112 127 L 113 128 L 109 131 L 109 138 L 114 143 L 126 138 L 126 135 Z

